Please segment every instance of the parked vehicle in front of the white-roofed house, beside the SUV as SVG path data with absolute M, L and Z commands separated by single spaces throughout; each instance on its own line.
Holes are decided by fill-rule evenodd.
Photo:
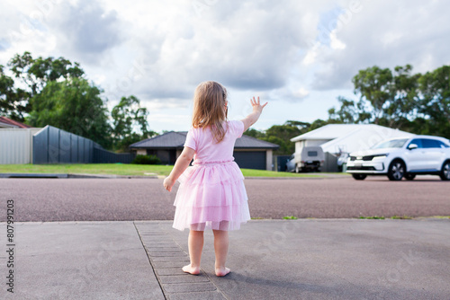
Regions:
M 305 146 L 302 152 L 294 153 L 286 163 L 286 172 L 320 171 L 325 161 L 321 146 Z

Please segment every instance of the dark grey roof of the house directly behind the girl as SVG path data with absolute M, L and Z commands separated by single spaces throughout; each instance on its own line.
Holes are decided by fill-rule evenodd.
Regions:
M 183 148 L 187 131 L 169 131 L 131 144 L 130 148 Z M 235 148 L 240 149 L 278 149 L 280 146 L 255 137 L 242 135 L 236 140 Z

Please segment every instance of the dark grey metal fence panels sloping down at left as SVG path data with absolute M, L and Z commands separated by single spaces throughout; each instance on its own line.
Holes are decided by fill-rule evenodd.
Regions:
M 33 163 L 130 163 L 133 154 L 114 154 L 92 140 L 52 126 L 32 137 Z

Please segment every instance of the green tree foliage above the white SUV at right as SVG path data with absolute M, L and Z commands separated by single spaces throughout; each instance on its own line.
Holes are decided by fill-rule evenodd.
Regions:
M 340 108 L 329 110 L 329 122 L 374 123 L 450 137 L 450 66 L 424 75 L 412 74 L 410 65 L 393 71 L 372 66 L 352 81 L 359 100 L 338 97 Z

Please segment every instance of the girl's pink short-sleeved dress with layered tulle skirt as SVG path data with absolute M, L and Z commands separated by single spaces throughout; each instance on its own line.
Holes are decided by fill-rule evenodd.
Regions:
M 184 146 L 195 153 L 193 166 L 187 167 L 178 178 L 175 229 L 236 230 L 250 220 L 244 176 L 233 157 L 234 144 L 242 137 L 244 123 L 232 120 L 223 125 L 228 130 L 218 144 L 210 128 L 190 128 L 187 133 Z

